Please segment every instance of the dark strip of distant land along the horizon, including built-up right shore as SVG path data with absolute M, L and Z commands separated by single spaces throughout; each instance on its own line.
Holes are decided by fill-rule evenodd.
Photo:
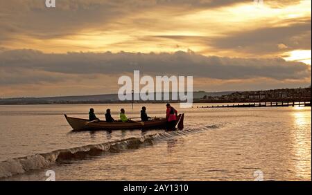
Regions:
M 158 101 L 157 97 L 161 95 Z M 168 95 L 169 100 L 163 100 Z M 121 101 L 118 94 L 76 95 L 58 97 L 15 97 L 0 99 L 0 105 L 35 105 L 35 104 L 164 104 L 182 103 L 171 100 L 172 93 L 153 93 L 152 100 Z M 193 103 L 257 103 L 257 102 L 309 102 L 311 101 L 311 86 L 297 89 L 272 89 L 266 91 L 194 91 Z

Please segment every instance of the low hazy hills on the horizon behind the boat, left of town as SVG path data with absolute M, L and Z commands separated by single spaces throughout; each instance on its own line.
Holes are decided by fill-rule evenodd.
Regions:
M 193 99 L 201 99 L 205 95 L 211 97 L 218 97 L 228 95 L 233 91 L 224 92 L 193 92 Z M 154 94 L 155 97 L 156 93 Z M 164 95 L 164 94 L 162 94 Z M 155 102 L 155 101 L 147 101 Z M 61 97 L 15 97 L 0 99 L 0 104 L 87 104 L 87 103 L 121 103 L 117 94 L 103 94 L 103 95 L 74 95 Z

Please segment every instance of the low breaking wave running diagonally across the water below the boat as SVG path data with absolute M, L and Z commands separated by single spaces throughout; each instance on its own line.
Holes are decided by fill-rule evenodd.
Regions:
M 105 152 L 120 152 L 126 149 L 138 149 L 144 145 L 155 145 L 157 141 L 171 140 L 176 136 L 184 136 L 189 133 L 200 133 L 207 129 L 216 129 L 218 125 L 209 125 L 198 129 L 184 129 L 183 131 L 170 131 L 141 136 L 139 138 L 127 138 L 95 145 L 85 145 L 70 149 L 59 149 L 44 154 L 35 154 L 22 158 L 12 158 L 0 162 L 0 178 L 8 178 L 16 174 L 24 174 L 27 171 L 49 167 L 55 163 L 69 163 L 71 160 L 81 160 L 101 156 Z

